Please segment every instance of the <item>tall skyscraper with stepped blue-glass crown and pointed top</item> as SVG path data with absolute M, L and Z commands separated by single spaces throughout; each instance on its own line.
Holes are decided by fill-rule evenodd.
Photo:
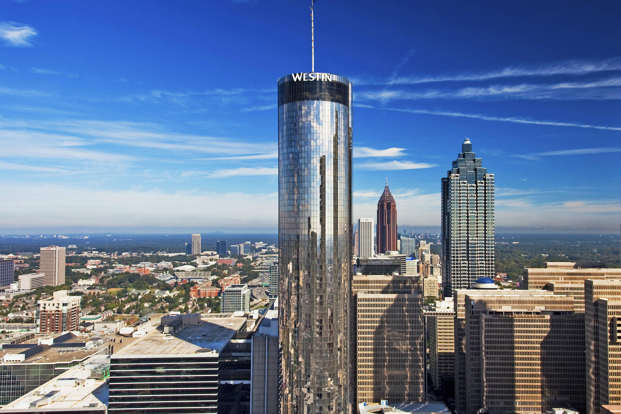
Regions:
M 494 278 L 494 174 L 487 174 L 468 138 L 442 179 L 443 290 L 469 289 Z

